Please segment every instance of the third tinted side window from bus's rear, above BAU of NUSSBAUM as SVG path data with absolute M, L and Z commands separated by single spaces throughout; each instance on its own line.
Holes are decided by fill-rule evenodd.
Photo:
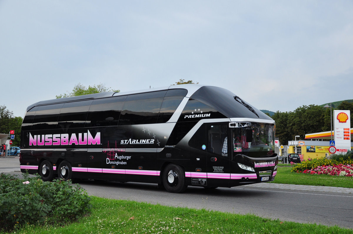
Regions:
M 65 103 L 60 111 L 58 129 L 83 128 L 92 100 Z

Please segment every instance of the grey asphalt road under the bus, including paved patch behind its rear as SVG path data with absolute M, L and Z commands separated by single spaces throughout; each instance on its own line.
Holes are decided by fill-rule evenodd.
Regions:
M 20 174 L 16 168 L 18 157 L 0 158 L 0 170 Z M 158 189 L 155 184 L 83 180 L 80 185 L 98 197 L 353 229 L 353 189 L 347 188 L 259 183 L 214 190 L 189 186 L 185 193 L 175 194 Z

